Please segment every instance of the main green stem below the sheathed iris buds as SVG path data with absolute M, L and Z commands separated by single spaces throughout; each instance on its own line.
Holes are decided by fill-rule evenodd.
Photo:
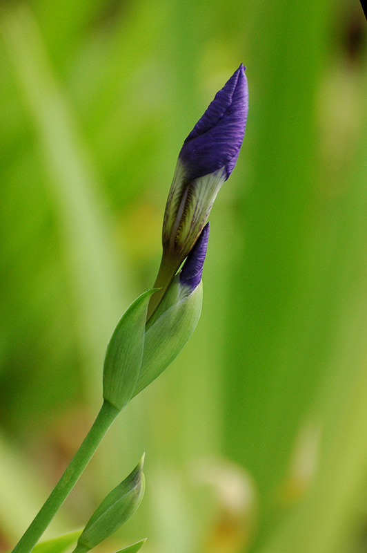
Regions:
M 75 486 L 79 476 L 88 465 L 103 436 L 108 431 L 119 411 L 109 402 L 103 402 L 92 428 L 84 438 L 81 447 L 70 461 L 66 471 L 43 504 L 41 510 L 30 524 L 25 534 L 14 547 L 13 553 L 29 553 L 46 530 L 52 518 L 57 513 L 70 491 Z

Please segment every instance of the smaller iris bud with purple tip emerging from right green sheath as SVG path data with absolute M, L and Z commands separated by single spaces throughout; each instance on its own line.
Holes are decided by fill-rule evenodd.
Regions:
M 201 314 L 201 274 L 209 237 L 204 227 L 182 270 L 170 284 L 163 300 L 146 326 L 143 363 L 134 395 L 155 380 L 179 355 L 194 332 Z

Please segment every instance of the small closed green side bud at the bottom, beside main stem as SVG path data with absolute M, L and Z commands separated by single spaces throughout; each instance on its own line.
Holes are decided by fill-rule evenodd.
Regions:
M 132 473 L 112 489 L 95 510 L 81 532 L 74 553 L 86 553 L 96 547 L 135 513 L 144 494 L 143 462 L 144 456 Z

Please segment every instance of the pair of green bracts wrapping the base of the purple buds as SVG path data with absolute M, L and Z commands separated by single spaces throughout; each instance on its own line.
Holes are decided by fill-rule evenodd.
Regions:
M 155 380 L 179 355 L 197 326 L 202 283 L 193 292 L 177 275 L 157 310 L 146 323 L 149 299 L 156 289 L 139 296 L 119 320 L 108 344 L 103 398 L 117 409 Z

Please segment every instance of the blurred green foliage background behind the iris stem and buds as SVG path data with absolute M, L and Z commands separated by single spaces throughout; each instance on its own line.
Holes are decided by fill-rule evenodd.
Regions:
M 211 221 L 199 326 L 49 529 L 146 451 L 101 552 L 367 550 L 367 68 L 357 0 L 0 6 L 0 548 L 99 409 L 117 319 L 155 280 L 181 144 L 240 62 L 250 111 Z

